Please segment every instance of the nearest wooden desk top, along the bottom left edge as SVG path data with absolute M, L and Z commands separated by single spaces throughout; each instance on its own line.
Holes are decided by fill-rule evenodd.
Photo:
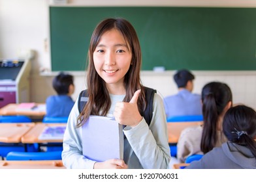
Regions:
M 0 169 L 65 169 L 61 160 L 56 161 L 0 161 Z

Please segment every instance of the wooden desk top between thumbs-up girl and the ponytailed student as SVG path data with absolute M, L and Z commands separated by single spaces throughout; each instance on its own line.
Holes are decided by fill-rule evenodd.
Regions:
M 186 127 L 202 125 L 203 122 L 167 122 L 168 143 L 176 144 L 180 138 L 180 133 Z

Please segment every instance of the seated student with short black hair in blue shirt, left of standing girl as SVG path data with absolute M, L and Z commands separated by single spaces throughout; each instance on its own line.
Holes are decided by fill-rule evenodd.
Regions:
M 54 77 L 52 86 L 56 90 L 57 96 L 49 96 L 46 99 L 46 116 L 69 116 L 74 105 L 74 101 L 71 98 L 71 95 L 74 93 L 73 76 L 61 72 Z

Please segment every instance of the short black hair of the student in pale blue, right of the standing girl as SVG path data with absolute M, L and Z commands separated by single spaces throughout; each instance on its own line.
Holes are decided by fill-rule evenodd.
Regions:
M 176 82 L 178 88 L 184 88 L 188 81 L 195 79 L 195 76 L 189 72 L 189 70 L 179 70 L 174 75 L 174 81 Z

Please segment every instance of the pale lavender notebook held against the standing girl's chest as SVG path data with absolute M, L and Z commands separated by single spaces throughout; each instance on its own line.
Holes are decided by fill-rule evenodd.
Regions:
M 123 159 L 123 125 L 113 118 L 89 116 L 82 126 L 82 150 L 93 161 Z

